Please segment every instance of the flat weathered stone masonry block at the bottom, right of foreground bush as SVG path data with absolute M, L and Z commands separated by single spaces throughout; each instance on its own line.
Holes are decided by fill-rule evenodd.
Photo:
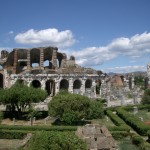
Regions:
M 116 150 L 116 142 L 105 126 L 87 124 L 78 127 L 77 136 L 84 139 L 88 150 Z

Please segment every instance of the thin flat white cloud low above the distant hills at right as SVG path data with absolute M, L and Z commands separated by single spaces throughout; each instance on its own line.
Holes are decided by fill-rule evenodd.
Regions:
M 135 71 L 146 71 L 146 66 L 123 66 L 104 69 L 105 72 L 129 73 Z

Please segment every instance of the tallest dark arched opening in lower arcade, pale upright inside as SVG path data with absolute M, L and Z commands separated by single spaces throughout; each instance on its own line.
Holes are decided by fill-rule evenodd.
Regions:
M 45 90 L 47 91 L 48 95 L 54 96 L 55 95 L 55 81 L 54 80 L 48 80 L 46 81 Z

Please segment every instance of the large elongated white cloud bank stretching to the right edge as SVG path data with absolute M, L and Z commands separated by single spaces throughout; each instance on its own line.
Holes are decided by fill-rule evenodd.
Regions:
M 117 38 L 104 47 L 88 47 L 72 54 L 77 63 L 82 66 L 100 65 L 119 55 L 128 56 L 131 59 L 139 58 L 150 52 L 150 33 L 136 34 L 131 38 Z

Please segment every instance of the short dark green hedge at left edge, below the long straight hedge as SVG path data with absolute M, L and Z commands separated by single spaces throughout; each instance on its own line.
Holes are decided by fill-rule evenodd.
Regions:
M 23 131 L 0 130 L 0 139 L 23 139 L 26 135 Z

